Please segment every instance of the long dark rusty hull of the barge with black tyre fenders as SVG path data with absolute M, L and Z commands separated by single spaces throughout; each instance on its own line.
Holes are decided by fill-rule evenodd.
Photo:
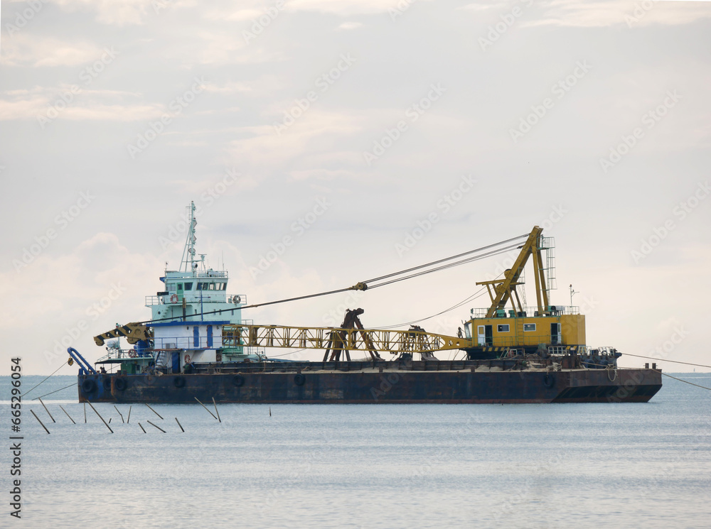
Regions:
M 264 404 L 613 403 L 647 402 L 662 386 L 661 372 L 653 369 L 515 371 L 506 369 L 505 363 L 482 366 L 470 361 L 294 364 L 298 365 L 282 365 L 272 371 L 257 365 L 250 369 L 215 366 L 201 373 L 160 376 L 80 375 L 79 400 L 175 404 L 196 403 L 196 399 L 212 402 L 213 398 L 218 403 Z

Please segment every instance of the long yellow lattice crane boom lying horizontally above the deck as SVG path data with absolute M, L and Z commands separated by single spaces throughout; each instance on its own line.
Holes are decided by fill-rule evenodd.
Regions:
M 398 354 L 447 351 L 474 347 L 471 339 L 423 331 L 341 329 L 338 327 L 286 327 L 284 325 L 224 325 L 224 347 L 284 347 L 289 349 L 333 349 L 332 334 L 342 340 L 336 350 L 369 349 Z

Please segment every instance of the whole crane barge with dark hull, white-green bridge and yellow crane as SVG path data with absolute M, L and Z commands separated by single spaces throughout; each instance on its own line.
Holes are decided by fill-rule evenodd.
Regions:
M 542 236 L 540 227 L 403 272 L 429 273 L 520 249 L 502 278 L 476 283 L 488 292 L 491 305 L 471 309 L 462 327 L 446 335 L 417 326 L 366 329 L 360 322 L 362 309 L 347 310 L 341 327 L 243 320 L 242 310 L 267 303 L 247 305 L 246 295 L 228 295 L 227 271 L 207 268 L 204 254 L 196 258 L 194 212 L 191 204 L 180 269 L 166 266 L 163 288 L 146 297 L 151 319 L 117 325 L 95 337 L 107 354 L 93 366 L 68 349 L 79 365 L 80 402 L 640 403 L 662 386 L 656 365 L 621 368 L 616 349 L 587 346 L 585 317 L 578 307 L 550 305 L 552 238 Z M 516 242 L 503 245 L 511 241 Z M 529 259 L 533 307 L 525 305 L 523 290 Z M 367 290 L 368 285 L 380 286 L 381 279 L 343 290 Z M 122 347 L 122 340 L 132 347 Z M 324 358 L 270 359 L 265 351 L 271 348 L 320 349 Z M 356 354 L 361 358 L 351 359 Z M 438 354 L 454 354 L 455 359 L 439 359 Z

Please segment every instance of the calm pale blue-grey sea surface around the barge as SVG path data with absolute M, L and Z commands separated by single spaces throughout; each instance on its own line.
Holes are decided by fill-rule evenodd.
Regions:
M 711 527 L 711 391 L 666 377 L 647 404 L 95 405 L 113 435 L 76 388 L 43 397 L 56 422 L 31 400 L 74 381 L 23 402 L 2 528 Z M 9 442 L 9 377 L 0 398 Z

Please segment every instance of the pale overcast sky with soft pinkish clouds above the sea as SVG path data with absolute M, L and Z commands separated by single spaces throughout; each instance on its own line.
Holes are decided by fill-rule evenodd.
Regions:
M 538 225 L 589 345 L 709 366 L 710 45 L 700 1 L 2 1 L 0 374 L 73 374 L 67 344 L 148 319 L 191 200 L 250 303 Z M 515 255 L 245 318 L 396 326 Z

